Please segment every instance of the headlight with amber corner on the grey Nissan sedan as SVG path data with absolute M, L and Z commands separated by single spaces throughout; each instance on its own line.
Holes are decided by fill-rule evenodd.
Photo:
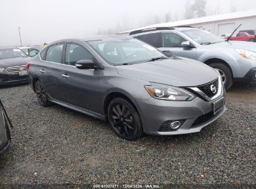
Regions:
M 174 86 L 151 83 L 151 85 L 145 85 L 145 88 L 151 96 L 158 99 L 169 101 L 191 101 L 194 99 L 194 95 L 189 91 Z

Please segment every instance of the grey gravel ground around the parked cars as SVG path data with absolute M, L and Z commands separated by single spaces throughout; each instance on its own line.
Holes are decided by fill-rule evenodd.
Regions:
M 0 98 L 14 125 L 11 147 L 0 157 L 1 184 L 255 187 L 256 83 L 236 83 L 227 93 L 229 110 L 199 133 L 135 142 L 117 137 L 107 122 L 40 106 L 28 85 L 0 88 Z

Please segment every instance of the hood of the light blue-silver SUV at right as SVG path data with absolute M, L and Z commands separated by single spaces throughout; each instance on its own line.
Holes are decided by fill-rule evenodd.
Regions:
M 204 45 L 207 48 L 216 48 L 216 47 L 226 47 L 226 48 L 239 48 L 244 50 L 250 50 L 256 52 L 256 43 L 255 42 L 244 42 L 244 41 L 235 41 L 230 40 L 229 42 L 222 42 L 212 45 Z

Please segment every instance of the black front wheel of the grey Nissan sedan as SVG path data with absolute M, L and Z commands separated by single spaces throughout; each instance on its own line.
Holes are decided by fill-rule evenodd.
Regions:
M 108 121 L 122 139 L 135 141 L 143 134 L 141 119 L 135 108 L 123 98 L 114 98 L 108 106 Z

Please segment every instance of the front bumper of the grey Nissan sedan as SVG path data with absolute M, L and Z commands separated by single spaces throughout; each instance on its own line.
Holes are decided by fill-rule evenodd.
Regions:
M 164 101 L 154 98 L 140 99 L 137 102 L 144 132 L 146 134 L 165 136 L 199 132 L 227 110 L 224 105 L 215 115 L 213 114 L 212 103 L 220 98 L 224 98 L 225 103 L 225 91 L 211 102 L 204 101 L 198 97 L 192 101 Z M 184 121 L 179 129 L 161 130 L 164 122 L 178 120 Z

